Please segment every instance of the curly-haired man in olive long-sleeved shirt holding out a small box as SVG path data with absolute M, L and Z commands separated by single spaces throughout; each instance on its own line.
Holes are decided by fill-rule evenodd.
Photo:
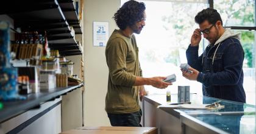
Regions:
M 112 126 L 140 127 L 142 113 L 138 100 L 145 94 L 143 85 L 156 88 L 171 85 L 163 82 L 166 77 L 142 77 L 133 33 L 140 34 L 145 26 L 145 9 L 143 2 L 131 0 L 113 17 L 119 30 L 113 31 L 105 49 L 109 71 L 105 111 Z

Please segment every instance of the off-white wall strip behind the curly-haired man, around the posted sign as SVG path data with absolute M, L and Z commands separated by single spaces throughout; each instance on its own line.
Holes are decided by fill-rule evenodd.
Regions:
M 105 62 L 105 47 L 93 46 L 93 21 L 108 21 L 109 35 L 116 29 L 112 19 L 120 0 L 84 1 L 84 125 L 110 125 L 105 113 L 108 68 Z

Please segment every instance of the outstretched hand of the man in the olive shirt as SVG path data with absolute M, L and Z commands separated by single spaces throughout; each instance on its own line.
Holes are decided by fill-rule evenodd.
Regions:
M 172 85 L 172 83 L 163 82 L 164 79 L 166 79 L 166 77 L 152 77 L 150 78 L 151 85 L 160 89 L 167 88 L 169 85 Z

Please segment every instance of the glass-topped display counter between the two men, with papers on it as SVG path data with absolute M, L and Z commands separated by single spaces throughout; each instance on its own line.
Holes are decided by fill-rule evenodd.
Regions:
M 177 103 L 171 94 L 171 103 Z M 152 94 L 143 98 L 143 126 L 157 127 L 158 133 L 255 133 L 255 106 L 213 97 L 190 94 L 195 105 L 221 101 L 220 110 L 194 110 L 159 107 L 166 105 L 166 94 Z

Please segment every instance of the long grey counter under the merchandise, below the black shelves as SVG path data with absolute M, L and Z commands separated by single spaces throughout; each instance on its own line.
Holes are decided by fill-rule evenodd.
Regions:
M 0 133 L 60 133 L 62 95 L 83 86 L 54 88 L 24 95 L 23 101 L 2 102 Z M 43 131 L 38 132 L 38 128 Z M 50 128 L 50 129 L 49 129 Z

